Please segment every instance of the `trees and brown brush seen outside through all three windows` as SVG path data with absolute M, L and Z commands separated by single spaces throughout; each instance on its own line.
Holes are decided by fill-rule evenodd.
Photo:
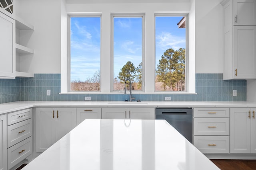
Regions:
M 176 51 L 167 49 L 161 56 L 156 66 L 156 84 L 160 84 L 164 91 L 184 91 L 185 90 L 185 59 L 186 52 L 184 48 Z M 132 90 L 141 90 L 142 87 L 142 63 L 137 67 L 131 61 L 128 61 L 114 78 L 114 90 L 122 90 L 124 82 L 130 79 Z M 129 82 L 127 88 L 129 89 Z M 73 80 L 71 89 L 76 91 L 99 91 L 100 90 L 100 71 L 95 72 L 92 78 L 80 82 Z

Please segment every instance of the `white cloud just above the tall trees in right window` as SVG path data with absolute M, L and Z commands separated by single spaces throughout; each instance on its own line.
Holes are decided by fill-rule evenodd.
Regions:
M 168 32 L 162 32 L 160 35 L 156 35 L 156 47 L 162 50 L 172 48 L 178 50 L 186 46 L 186 39 L 184 37 L 178 37 Z

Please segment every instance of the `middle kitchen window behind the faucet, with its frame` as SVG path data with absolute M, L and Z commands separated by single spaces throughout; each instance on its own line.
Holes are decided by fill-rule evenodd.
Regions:
M 128 90 L 130 82 L 133 91 L 144 90 L 144 23 L 141 14 L 111 15 L 112 92 L 124 90 L 125 82 Z

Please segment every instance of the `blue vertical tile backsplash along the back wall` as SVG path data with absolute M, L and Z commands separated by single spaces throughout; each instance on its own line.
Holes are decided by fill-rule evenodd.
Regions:
M 51 96 L 46 96 L 46 90 Z M 237 96 L 232 96 L 237 90 Z M 60 74 L 34 74 L 34 78 L 0 79 L 0 103 L 16 101 L 124 101 L 128 94 L 59 94 Z M 134 94 L 136 100 L 164 101 L 246 101 L 246 80 L 222 80 L 222 74 L 196 74 L 196 95 Z

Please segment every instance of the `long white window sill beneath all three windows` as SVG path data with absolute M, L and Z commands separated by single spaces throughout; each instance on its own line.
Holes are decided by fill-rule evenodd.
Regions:
M 124 94 L 124 92 L 120 92 L 120 93 L 117 93 L 117 92 L 66 92 L 66 93 L 59 93 L 59 94 Z M 129 92 L 126 92 L 126 94 L 129 94 Z M 176 95 L 176 94 L 182 94 L 182 95 L 188 95 L 188 94 L 191 94 L 191 95 L 195 95 L 197 93 L 190 93 L 190 92 L 132 92 L 132 94 L 173 94 L 173 95 Z

